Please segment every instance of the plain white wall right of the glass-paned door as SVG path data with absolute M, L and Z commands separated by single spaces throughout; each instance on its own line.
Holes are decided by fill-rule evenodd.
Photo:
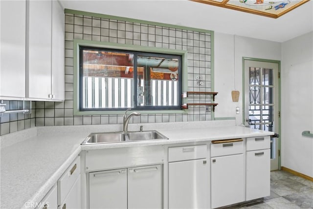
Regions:
M 282 43 L 282 166 L 313 177 L 313 32 Z

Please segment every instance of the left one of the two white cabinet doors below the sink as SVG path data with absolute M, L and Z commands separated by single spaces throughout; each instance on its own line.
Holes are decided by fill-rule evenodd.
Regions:
M 126 208 L 126 169 L 89 173 L 89 209 Z

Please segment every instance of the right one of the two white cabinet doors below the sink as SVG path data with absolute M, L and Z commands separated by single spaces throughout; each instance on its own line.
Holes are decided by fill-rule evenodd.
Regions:
M 128 168 L 128 209 L 161 208 L 161 165 Z

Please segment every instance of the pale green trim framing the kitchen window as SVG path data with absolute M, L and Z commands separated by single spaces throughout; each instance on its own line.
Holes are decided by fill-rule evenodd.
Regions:
M 79 90 L 78 90 L 78 81 L 79 81 L 79 46 L 97 46 L 97 47 L 106 47 L 113 49 L 124 49 L 132 51 L 145 51 L 145 52 L 154 52 L 154 53 L 167 53 L 167 54 L 176 54 L 181 55 L 182 59 L 182 92 L 186 92 L 188 89 L 188 66 L 187 66 L 187 51 L 178 50 L 178 49 L 168 49 L 168 48 L 158 48 L 152 46 L 136 46 L 136 45 L 126 45 L 110 42 L 100 42 L 100 41 L 90 41 L 90 40 L 73 40 L 73 115 L 116 115 L 124 114 L 125 111 L 79 111 Z M 187 99 L 187 98 L 184 98 Z M 182 100 L 184 103 L 185 100 Z M 186 110 L 158 110 L 158 111 L 138 111 L 142 114 L 184 114 L 187 113 Z

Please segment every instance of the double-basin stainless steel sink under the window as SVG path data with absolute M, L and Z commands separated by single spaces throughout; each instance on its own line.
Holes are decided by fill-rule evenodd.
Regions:
M 103 132 L 89 134 L 89 136 L 81 144 L 118 143 L 157 139 L 168 138 L 155 130 L 142 132 Z

